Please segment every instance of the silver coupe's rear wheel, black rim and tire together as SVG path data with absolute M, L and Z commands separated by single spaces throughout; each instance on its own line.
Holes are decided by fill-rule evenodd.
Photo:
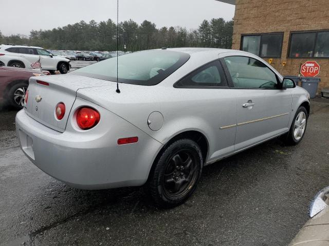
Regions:
M 168 146 L 156 159 L 147 183 L 156 206 L 184 203 L 194 192 L 202 168 L 202 153 L 193 140 L 180 139 Z

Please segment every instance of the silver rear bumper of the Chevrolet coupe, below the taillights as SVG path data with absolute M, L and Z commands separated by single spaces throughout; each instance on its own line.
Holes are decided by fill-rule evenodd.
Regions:
M 111 121 L 107 122 L 116 117 L 111 113 L 108 119 Z M 140 186 L 147 180 L 162 145 L 121 118 L 115 127 L 115 132 L 112 128 L 84 136 L 70 130 L 54 131 L 29 117 L 25 110 L 16 115 L 17 136 L 25 155 L 48 175 L 78 189 Z M 129 135 L 125 136 L 123 129 Z M 122 134 L 123 137 L 133 134 L 139 140 L 119 146 L 117 139 Z

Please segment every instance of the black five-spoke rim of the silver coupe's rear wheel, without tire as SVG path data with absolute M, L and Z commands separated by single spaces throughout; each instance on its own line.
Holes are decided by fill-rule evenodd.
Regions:
M 197 158 L 190 150 L 180 150 L 169 157 L 161 183 L 167 197 L 184 197 L 194 186 L 199 174 Z

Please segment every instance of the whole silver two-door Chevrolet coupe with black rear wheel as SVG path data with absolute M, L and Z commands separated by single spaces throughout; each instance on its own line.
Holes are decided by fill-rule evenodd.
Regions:
M 26 156 L 69 186 L 145 185 L 173 207 L 204 166 L 278 136 L 298 144 L 309 110 L 309 94 L 258 56 L 161 49 L 31 77 L 16 129 Z

